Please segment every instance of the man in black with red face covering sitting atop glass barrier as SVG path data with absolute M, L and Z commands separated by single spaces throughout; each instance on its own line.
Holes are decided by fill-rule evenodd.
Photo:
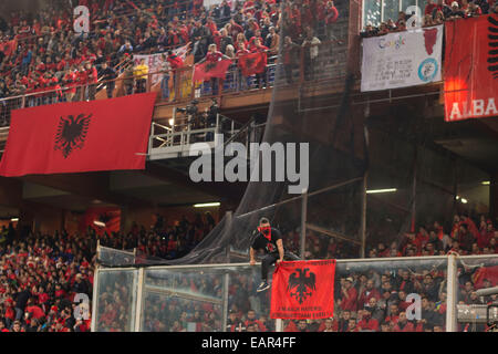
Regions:
M 276 262 L 279 264 L 284 259 L 297 261 L 300 258 L 283 249 L 282 235 L 278 229 L 270 226 L 270 220 L 268 220 L 268 218 L 261 218 L 259 220 L 259 227 L 252 232 L 252 244 L 249 249 L 250 264 L 256 264 L 255 256 L 257 250 L 263 250 L 267 253 L 261 261 L 261 283 L 256 290 L 257 292 L 260 292 L 270 288 L 268 284 L 268 271 L 270 270 L 271 264 Z

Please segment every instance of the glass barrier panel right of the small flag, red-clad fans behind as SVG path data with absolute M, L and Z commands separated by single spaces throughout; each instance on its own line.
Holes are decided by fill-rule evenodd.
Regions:
M 333 319 L 283 321 L 283 331 L 445 331 L 446 273 L 446 258 L 339 260 Z

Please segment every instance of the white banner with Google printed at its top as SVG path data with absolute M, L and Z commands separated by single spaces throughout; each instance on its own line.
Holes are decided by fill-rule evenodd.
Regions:
M 442 80 L 443 25 L 363 39 L 361 91 Z

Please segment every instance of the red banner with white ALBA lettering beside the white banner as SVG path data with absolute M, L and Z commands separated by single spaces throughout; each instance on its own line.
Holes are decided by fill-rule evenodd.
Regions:
M 498 116 L 498 15 L 445 27 L 445 121 Z

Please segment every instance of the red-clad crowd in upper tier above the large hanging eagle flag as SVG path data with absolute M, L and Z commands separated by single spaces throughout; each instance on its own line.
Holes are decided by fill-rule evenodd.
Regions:
M 334 39 L 332 23 L 339 17 L 331 0 L 288 1 L 283 17 L 276 0 L 234 4 L 225 0 L 209 9 L 198 0 L 81 0 L 80 4 L 90 8 L 91 29 L 77 34 L 72 15 L 75 2 L 55 0 L 35 15 L 15 12 L 3 21 L 0 98 L 32 94 L 27 106 L 94 100 L 98 82 L 112 81 L 121 73 L 126 94 L 144 92 L 148 66 L 134 63 L 133 55 L 164 53 L 160 70 L 166 81 L 184 65 L 172 50 L 185 44 L 190 45 L 195 63 L 212 62 L 220 55 L 236 62 L 240 55 L 255 52 L 263 53 L 266 62 L 283 41 L 291 83 L 289 70 L 299 56 L 297 49 Z M 290 35 L 280 39 L 282 30 Z M 310 62 L 315 60 L 318 49 L 305 52 Z M 240 70 L 238 74 L 241 76 Z M 266 86 L 266 71 L 256 80 L 260 87 Z M 168 96 L 167 84 L 162 88 Z M 114 90 L 114 83 L 106 85 L 108 97 Z M 43 93 L 48 91 L 52 92 Z M 8 123 L 7 108 L 3 104 L 3 124 Z

